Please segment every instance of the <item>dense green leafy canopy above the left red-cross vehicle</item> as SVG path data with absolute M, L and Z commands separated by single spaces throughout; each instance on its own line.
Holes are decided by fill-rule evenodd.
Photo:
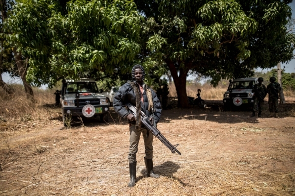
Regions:
M 60 78 L 127 73 L 141 46 L 133 1 L 75 0 L 63 14 L 58 0 L 17 3 L 7 23 L 10 42 L 29 58 L 28 80 L 54 85 Z

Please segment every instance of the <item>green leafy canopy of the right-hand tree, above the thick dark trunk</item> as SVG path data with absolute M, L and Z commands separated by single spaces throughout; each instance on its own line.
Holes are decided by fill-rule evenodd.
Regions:
M 163 62 L 163 66 L 172 63 L 178 72 L 210 76 L 213 85 L 292 59 L 295 36 L 286 28 L 290 2 L 136 1 L 146 16 L 148 58 Z

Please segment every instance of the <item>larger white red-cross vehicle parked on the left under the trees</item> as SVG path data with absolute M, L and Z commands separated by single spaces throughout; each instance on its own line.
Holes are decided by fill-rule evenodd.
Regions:
M 109 120 L 109 101 L 99 93 L 93 79 L 63 80 L 60 103 L 64 126 L 71 117 L 99 116 L 100 122 Z

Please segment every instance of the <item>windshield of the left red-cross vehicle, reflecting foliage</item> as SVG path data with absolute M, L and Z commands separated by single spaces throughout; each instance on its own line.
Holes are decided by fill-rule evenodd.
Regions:
M 73 93 L 98 93 L 95 82 L 66 83 L 65 94 Z

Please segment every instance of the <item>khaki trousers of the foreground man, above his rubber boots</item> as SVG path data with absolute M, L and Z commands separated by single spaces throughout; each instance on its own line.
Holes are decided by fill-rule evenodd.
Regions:
M 138 148 L 138 143 L 140 139 L 141 133 L 143 133 L 143 138 L 145 142 L 145 148 L 146 148 L 146 158 L 151 159 L 152 158 L 152 139 L 153 135 L 152 133 L 149 133 L 147 138 L 147 129 L 140 128 L 136 129 L 135 124 L 129 125 L 129 132 L 130 132 L 130 138 L 129 138 L 129 154 L 128 154 L 128 161 L 129 163 L 134 163 L 136 161 L 136 152 Z

